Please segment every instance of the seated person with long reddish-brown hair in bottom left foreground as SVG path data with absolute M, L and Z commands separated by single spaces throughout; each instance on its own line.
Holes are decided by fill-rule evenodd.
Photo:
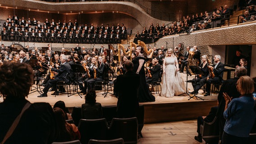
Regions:
M 66 142 L 81 139 L 80 132 L 75 124 L 69 124 L 65 120 L 65 113 L 61 108 L 53 108 L 58 126 L 58 134 L 55 142 Z

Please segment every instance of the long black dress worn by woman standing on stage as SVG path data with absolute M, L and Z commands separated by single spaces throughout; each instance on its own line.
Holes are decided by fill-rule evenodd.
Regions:
M 139 72 L 140 75 L 140 86 L 137 92 L 138 95 L 138 100 L 140 103 L 142 102 L 154 102 L 155 97 L 149 92 L 149 89 L 146 85 L 146 76 L 145 76 L 145 69 L 144 69 L 144 64 L 145 64 L 145 58 L 143 57 L 136 57 L 133 59 L 133 72 L 137 72 L 137 69 L 139 67 L 139 59 L 143 59 L 144 63 L 142 65 L 142 68 Z

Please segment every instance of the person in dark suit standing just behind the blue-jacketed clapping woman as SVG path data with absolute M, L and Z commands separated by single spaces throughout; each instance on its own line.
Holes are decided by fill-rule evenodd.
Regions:
M 227 93 L 228 95 L 232 96 L 232 99 L 238 98 L 241 94 L 237 90 L 237 81 L 240 76 L 246 76 L 247 75 L 247 69 L 245 67 L 238 67 L 235 70 L 235 77 L 228 79 L 223 82 L 218 95 L 218 101 L 219 101 L 219 135 L 222 136 L 224 125 L 226 122 L 226 119 L 223 117 L 223 112 L 225 109 L 225 99 L 223 96 L 223 93 Z

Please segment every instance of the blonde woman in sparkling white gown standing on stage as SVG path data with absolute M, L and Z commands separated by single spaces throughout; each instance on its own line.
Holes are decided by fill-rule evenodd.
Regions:
M 168 49 L 163 63 L 162 97 L 184 94 L 185 82 L 178 72 L 178 60 L 172 49 Z

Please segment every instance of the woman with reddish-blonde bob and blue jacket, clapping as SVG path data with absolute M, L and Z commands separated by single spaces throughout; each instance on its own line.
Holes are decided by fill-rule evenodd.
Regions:
M 223 144 L 248 144 L 249 134 L 255 122 L 255 100 L 252 98 L 254 86 L 251 77 L 241 76 L 237 81 L 237 90 L 241 94 L 237 99 L 223 93 L 226 101 L 223 114 L 226 119 Z

